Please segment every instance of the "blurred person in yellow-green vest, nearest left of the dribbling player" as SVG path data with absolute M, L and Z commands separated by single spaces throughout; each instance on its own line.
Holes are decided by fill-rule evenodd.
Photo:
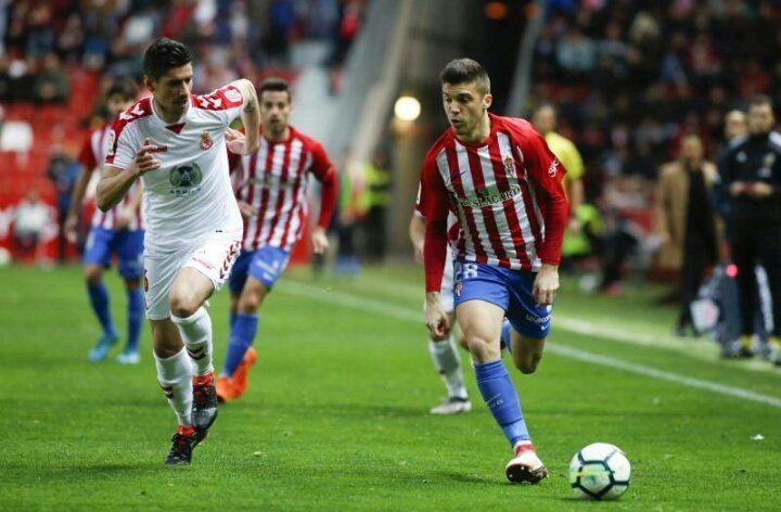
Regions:
M 363 166 L 368 212 L 363 220 L 364 254 L 368 263 L 380 264 L 385 259 L 387 240 L 387 209 L 390 206 L 390 167 L 385 150 L 374 151 L 371 162 Z

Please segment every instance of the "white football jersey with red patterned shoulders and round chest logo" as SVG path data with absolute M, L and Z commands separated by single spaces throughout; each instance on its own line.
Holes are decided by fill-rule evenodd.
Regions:
M 163 165 L 143 175 L 144 248 L 176 251 L 215 231 L 242 230 L 228 172 L 225 132 L 241 113 L 239 89 L 193 94 L 177 123 L 165 123 L 144 98 L 114 120 L 105 163 L 126 169 L 150 139 Z

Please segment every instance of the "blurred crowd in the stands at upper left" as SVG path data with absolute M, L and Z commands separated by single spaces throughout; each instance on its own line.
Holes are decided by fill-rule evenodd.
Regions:
M 302 38 L 330 39 L 336 65 L 345 52 L 345 25 L 354 25 L 364 3 L 0 0 L 0 102 L 65 102 L 69 65 L 140 78 L 143 50 L 159 36 L 196 50 L 194 81 L 202 90 L 289 66 L 291 44 Z

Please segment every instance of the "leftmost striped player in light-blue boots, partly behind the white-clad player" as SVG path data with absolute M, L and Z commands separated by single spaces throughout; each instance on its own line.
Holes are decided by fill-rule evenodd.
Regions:
M 127 110 L 136 101 L 138 91 L 129 79 L 117 79 L 106 92 L 106 107 L 114 120 L 120 112 Z M 81 203 L 92 172 L 103 167 L 105 162 L 108 132 L 112 124 L 92 130 L 79 153 L 81 174 L 74 187 L 71 209 L 65 219 L 65 234 L 76 240 Z M 117 256 L 117 269 L 125 280 L 127 290 L 127 344 L 125 350 L 117 356 L 120 364 L 136 364 L 139 361 L 139 337 L 143 321 L 143 221 L 141 218 L 141 185 L 135 183 L 125 199 L 108 212 L 95 209 L 87 236 L 84 254 L 84 277 L 90 305 L 103 330 L 98 343 L 89 351 L 89 360 L 102 361 L 112 346 L 119 340 L 108 307 L 108 291 L 103 283 L 103 270 L 111 266 L 112 256 Z

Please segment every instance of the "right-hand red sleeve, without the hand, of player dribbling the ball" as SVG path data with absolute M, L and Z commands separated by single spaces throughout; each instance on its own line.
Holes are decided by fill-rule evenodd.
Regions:
M 532 131 L 521 141 L 524 164 L 539 197 L 545 222 L 545 239 L 537 241 L 537 254 L 543 264 L 559 265 L 568 218 L 568 206 L 562 179 L 566 169 L 548 148 L 545 139 Z

